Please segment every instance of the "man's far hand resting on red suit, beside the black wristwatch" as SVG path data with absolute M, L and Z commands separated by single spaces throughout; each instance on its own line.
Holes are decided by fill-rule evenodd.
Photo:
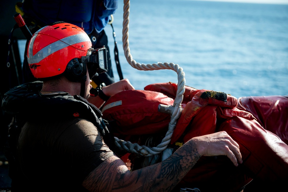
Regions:
M 107 85 L 106 87 L 102 88 L 102 91 L 107 96 L 115 95 L 121 91 L 135 89 L 128 79 L 122 79 L 118 82 L 112 83 Z

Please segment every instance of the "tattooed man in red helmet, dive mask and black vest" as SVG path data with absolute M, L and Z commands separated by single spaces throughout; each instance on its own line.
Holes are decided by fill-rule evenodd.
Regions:
M 69 23 L 43 27 L 30 40 L 27 57 L 43 82 L 16 86 L 2 101 L 14 116 L 7 153 L 13 191 L 171 191 L 201 156 L 242 163 L 238 144 L 221 131 L 192 138 L 161 163 L 130 172 L 109 123 L 88 102 L 102 56 L 87 34 Z M 122 80 L 103 92 L 127 89 L 134 88 Z

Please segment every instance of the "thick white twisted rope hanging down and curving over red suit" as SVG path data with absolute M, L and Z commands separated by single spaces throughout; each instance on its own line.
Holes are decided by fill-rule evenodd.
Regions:
M 163 138 L 162 142 L 156 146 L 149 148 L 147 146 L 139 146 L 137 143 L 131 143 L 129 141 L 120 140 L 117 137 L 115 138 L 115 145 L 125 150 L 128 153 L 134 153 L 139 156 L 152 156 L 161 153 L 163 150 L 165 150 L 168 146 L 168 144 L 171 141 L 171 137 L 173 134 L 173 131 L 175 129 L 177 119 L 179 118 L 182 107 L 181 103 L 183 101 L 183 94 L 185 92 L 185 73 L 183 72 L 183 69 L 179 67 L 179 65 L 174 63 L 153 63 L 153 64 L 140 64 L 137 63 L 135 60 L 132 59 L 132 55 L 130 54 L 130 48 L 129 48 L 129 40 L 128 40 L 128 30 L 129 30 L 129 14 L 130 14 L 130 0 L 124 0 L 124 7 L 123 7 L 123 30 L 122 30 L 122 42 L 123 42 L 123 49 L 125 57 L 128 61 L 128 63 L 134 67 L 135 69 L 143 70 L 143 71 L 149 71 L 149 70 L 159 70 L 159 69 L 172 69 L 173 71 L 176 71 L 178 74 L 178 89 L 176 93 L 176 97 L 173 103 L 173 110 L 171 112 L 171 121 L 168 126 L 168 131 Z

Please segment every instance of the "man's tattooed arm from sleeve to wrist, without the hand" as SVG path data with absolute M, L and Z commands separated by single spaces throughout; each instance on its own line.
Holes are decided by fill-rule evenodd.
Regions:
M 89 174 L 83 186 L 90 191 L 171 191 L 199 158 L 191 141 L 165 161 L 132 172 L 112 156 Z

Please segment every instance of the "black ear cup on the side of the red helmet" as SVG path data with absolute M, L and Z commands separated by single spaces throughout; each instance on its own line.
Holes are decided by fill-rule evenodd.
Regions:
M 83 77 L 86 76 L 86 70 L 84 69 L 83 63 L 80 63 L 78 58 L 74 58 L 67 64 L 64 74 L 70 81 L 80 82 L 83 80 Z

